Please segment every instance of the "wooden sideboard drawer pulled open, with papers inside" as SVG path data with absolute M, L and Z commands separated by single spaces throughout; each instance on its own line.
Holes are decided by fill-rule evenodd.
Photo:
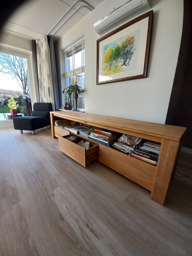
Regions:
M 76 143 L 67 139 L 68 136 L 58 136 L 58 147 L 60 151 L 80 163 L 82 166 L 86 167 L 88 163 L 98 158 L 99 145 L 90 142 L 90 148 L 85 149 Z M 86 139 L 84 139 L 86 141 Z

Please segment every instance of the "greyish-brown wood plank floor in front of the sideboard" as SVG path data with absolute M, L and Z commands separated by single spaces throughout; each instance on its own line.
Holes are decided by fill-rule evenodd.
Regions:
M 191 155 L 178 167 L 192 176 Z M 165 205 L 97 160 L 84 168 L 43 128 L 0 130 L 0 255 L 192 255 L 192 178 Z

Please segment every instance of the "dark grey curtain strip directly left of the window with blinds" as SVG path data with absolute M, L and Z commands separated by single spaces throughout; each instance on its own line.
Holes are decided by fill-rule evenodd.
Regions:
M 47 36 L 48 44 L 49 44 L 49 51 L 51 56 L 51 71 L 52 71 L 52 82 L 54 88 L 54 97 L 55 97 L 55 110 L 59 108 L 59 99 L 58 99 L 58 85 L 57 85 L 57 71 L 56 71 L 56 64 L 55 64 L 55 51 L 54 51 L 54 42 L 52 35 Z

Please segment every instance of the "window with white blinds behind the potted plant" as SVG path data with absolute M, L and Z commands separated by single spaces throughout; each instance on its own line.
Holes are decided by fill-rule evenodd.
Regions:
M 84 39 L 81 39 L 75 44 L 63 51 L 65 59 L 65 88 L 71 84 L 79 84 L 84 89 L 84 65 L 85 65 L 85 48 Z M 66 97 L 67 95 L 65 95 Z M 76 108 L 74 93 L 71 97 L 72 105 Z M 84 108 L 84 93 L 78 95 L 77 108 Z

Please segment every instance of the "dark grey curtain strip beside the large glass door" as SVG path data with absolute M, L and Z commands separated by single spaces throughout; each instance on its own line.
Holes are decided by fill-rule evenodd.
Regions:
M 33 56 L 33 70 L 34 70 L 34 96 L 35 101 L 40 102 L 39 95 L 39 77 L 38 77 L 38 69 L 37 69 L 37 45 L 36 40 L 32 40 L 32 56 Z

